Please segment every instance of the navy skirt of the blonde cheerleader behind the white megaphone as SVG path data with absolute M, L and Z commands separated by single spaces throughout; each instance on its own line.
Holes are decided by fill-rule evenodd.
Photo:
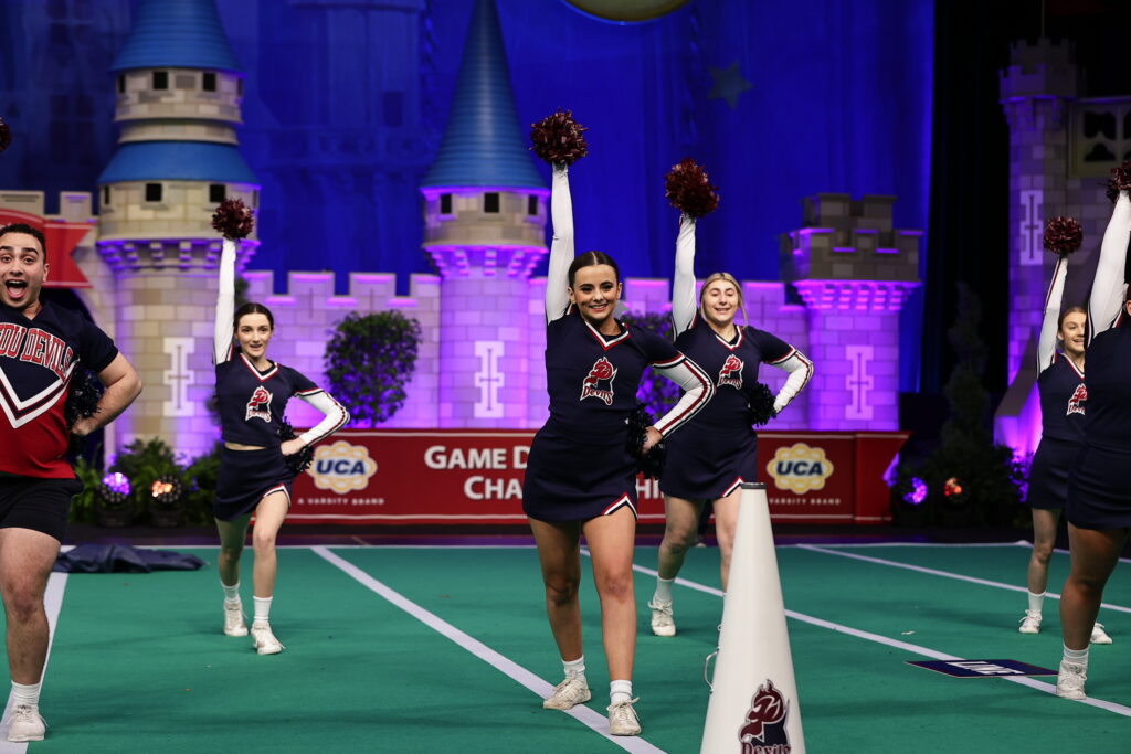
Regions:
M 758 479 L 758 435 L 749 424 L 710 428 L 692 423 L 665 442 L 667 459 L 659 478 L 665 495 L 717 500 Z

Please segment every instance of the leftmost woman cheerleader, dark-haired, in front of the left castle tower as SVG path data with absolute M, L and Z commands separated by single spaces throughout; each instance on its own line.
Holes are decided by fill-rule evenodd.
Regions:
M 283 644 L 271 633 L 268 619 L 278 571 L 275 537 L 291 505 L 291 485 L 295 477 L 286 459 L 337 432 L 349 421 L 349 414 L 309 379 L 267 358 L 275 320 L 266 306 L 247 303 L 233 315 L 234 239 L 251 232 L 250 210 L 240 200 L 225 201 L 217 210 L 214 225 L 225 235 L 213 352 L 224 441 L 213 504 L 221 539 L 218 566 L 224 588 L 224 633 L 248 635 L 240 601 L 240 555 L 248 522 L 254 513 L 251 540 L 256 554 L 252 571 L 256 608 L 251 638 L 260 655 L 276 655 L 283 651 Z M 307 401 L 326 418 L 297 437 L 284 440 L 282 433 L 288 425 L 283 413 L 292 396 Z

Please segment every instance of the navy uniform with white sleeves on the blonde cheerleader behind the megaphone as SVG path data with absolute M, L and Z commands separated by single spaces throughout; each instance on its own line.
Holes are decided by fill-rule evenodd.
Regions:
M 789 372 L 774 400 L 777 413 L 809 383 L 813 363 L 769 332 L 735 324 L 734 339 L 728 341 L 711 329 L 697 304 L 694 227 L 693 217 L 680 218 L 672 320 L 675 347 L 707 372 L 715 383 L 715 399 L 667 442 L 659 486 L 673 497 L 716 500 L 758 479 L 758 436 L 748 418 L 743 385 L 758 381 L 763 363 Z

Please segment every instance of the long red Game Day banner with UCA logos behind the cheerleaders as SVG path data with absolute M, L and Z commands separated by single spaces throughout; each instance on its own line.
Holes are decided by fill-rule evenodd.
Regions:
M 294 483 L 297 522 L 524 523 L 523 475 L 533 431 L 340 432 L 314 449 Z M 890 520 L 882 475 L 906 433 L 759 433 L 759 479 L 775 521 Z M 866 477 L 866 478 L 864 478 Z M 644 523 L 664 521 L 655 479 L 639 479 Z

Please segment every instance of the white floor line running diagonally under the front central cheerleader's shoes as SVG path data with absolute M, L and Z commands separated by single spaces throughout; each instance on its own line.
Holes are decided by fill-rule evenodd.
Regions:
M 405 613 L 408 613 L 414 618 L 432 629 L 437 633 L 450 639 L 456 642 L 465 650 L 480 658 L 491 667 L 495 668 L 503 675 L 516 681 L 523 686 L 526 686 L 529 691 L 538 696 L 538 699 L 545 699 L 553 693 L 554 687 L 552 684 L 543 681 L 538 676 L 534 675 L 523 666 L 518 665 L 513 660 L 503 657 L 495 650 L 491 649 L 477 639 L 473 639 L 467 635 L 456 626 L 451 625 L 440 616 L 431 613 L 416 603 L 409 600 L 407 597 L 402 595 L 394 589 L 390 589 L 386 584 L 381 583 L 370 574 L 365 573 L 362 569 L 357 567 L 353 563 L 342 558 L 340 556 L 330 552 L 329 547 L 311 547 L 311 551 L 320 557 L 325 558 L 336 567 L 344 571 L 349 578 L 357 581 L 363 587 L 370 589 L 371 591 L 378 593 L 392 605 L 399 607 Z M 599 714 L 588 707 L 578 705 L 571 710 L 567 710 L 566 714 L 575 718 L 582 725 L 593 729 L 594 733 L 603 736 L 610 743 L 615 744 L 625 752 L 633 752 L 640 754 L 662 754 L 664 749 L 657 748 L 656 746 L 649 744 L 647 740 L 636 736 L 610 736 L 608 735 L 608 720 L 604 714 Z

